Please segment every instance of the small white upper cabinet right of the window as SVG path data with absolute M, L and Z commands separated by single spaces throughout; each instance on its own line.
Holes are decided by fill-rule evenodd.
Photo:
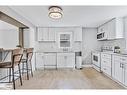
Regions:
M 82 28 L 76 27 L 74 31 L 74 41 L 82 41 Z

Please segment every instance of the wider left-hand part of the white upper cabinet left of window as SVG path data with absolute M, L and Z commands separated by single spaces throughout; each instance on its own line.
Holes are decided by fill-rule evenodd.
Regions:
M 48 41 L 48 28 L 38 28 L 38 41 Z

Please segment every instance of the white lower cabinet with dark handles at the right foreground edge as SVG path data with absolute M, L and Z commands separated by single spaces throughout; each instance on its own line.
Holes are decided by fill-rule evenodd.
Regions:
M 112 57 L 112 77 L 118 82 L 127 86 L 127 71 L 126 71 L 127 57 L 113 55 Z

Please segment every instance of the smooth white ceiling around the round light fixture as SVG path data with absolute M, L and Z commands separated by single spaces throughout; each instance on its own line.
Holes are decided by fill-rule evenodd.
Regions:
M 49 6 L 10 6 L 35 26 L 83 26 L 97 27 L 114 18 L 127 16 L 127 6 L 61 6 L 63 18 L 48 17 Z

